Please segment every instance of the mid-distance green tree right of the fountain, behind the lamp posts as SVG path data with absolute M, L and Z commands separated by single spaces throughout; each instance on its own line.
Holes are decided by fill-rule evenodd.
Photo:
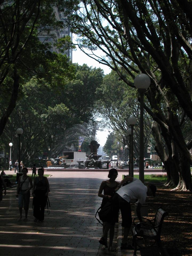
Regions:
M 137 123 L 134 126 L 134 154 L 135 158 L 139 156 L 139 106 L 135 99 L 137 92 L 135 89 L 126 85 L 125 82 L 119 81 L 116 72 L 111 71 L 103 79 L 101 88 L 97 89 L 97 95 L 100 98 L 97 102 L 97 110 L 100 116 L 104 119 L 105 125 L 112 129 L 118 141 L 123 139 L 124 146 L 129 145 L 128 129 L 130 125 L 128 118 L 135 116 Z M 146 102 L 147 104 L 147 102 Z M 149 114 L 145 113 L 145 132 L 144 145 L 145 151 L 151 139 L 152 125 Z M 150 140 L 150 144 L 153 140 Z M 117 145 L 114 145 L 117 147 Z

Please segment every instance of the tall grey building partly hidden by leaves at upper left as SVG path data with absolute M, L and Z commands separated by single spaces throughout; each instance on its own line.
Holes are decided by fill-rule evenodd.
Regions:
M 72 33 L 70 31 L 70 26 L 67 24 L 67 17 L 65 17 L 63 12 L 60 12 L 58 10 L 57 7 L 54 7 L 53 9 L 54 13 L 55 13 L 55 18 L 56 21 L 62 21 L 64 26 L 63 29 L 56 29 L 54 31 L 51 31 L 50 34 L 53 34 L 53 37 L 48 35 L 46 32 L 43 33 L 43 31 L 39 34 L 38 38 L 42 43 L 50 43 L 51 48 L 49 49 L 49 51 L 51 52 L 56 52 L 56 53 L 61 53 L 61 51 L 55 47 L 54 43 L 57 43 L 59 38 L 62 38 L 64 36 L 69 35 L 72 41 Z M 70 58 L 70 61 L 72 61 L 72 49 L 67 49 L 65 50 L 65 53 L 67 57 Z

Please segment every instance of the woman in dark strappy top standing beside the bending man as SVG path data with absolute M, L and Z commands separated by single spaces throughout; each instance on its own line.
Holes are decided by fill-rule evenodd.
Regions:
M 118 187 L 119 182 L 115 181 L 115 179 L 118 176 L 118 172 L 115 168 L 112 168 L 109 170 L 108 174 L 108 180 L 102 181 L 101 186 L 99 188 L 98 196 L 102 197 L 102 203 L 101 208 L 110 200 L 111 197 L 113 197 L 113 194 L 115 192 L 115 189 Z M 103 194 L 102 194 L 103 192 Z M 109 216 L 110 219 L 110 216 Z M 118 216 L 116 220 L 113 220 L 110 223 L 110 230 L 109 230 L 109 251 L 112 250 L 112 243 L 113 243 L 113 237 L 114 237 L 114 229 L 115 229 L 115 222 L 118 221 Z M 107 222 L 103 222 L 103 232 L 105 230 Z M 100 242 L 100 241 L 99 241 Z M 107 248 L 107 239 L 106 241 L 101 241 L 101 244 L 103 244 L 103 250 L 105 247 Z

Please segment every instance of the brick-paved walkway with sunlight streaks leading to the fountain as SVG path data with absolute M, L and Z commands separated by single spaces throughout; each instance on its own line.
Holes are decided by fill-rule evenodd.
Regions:
M 19 210 L 18 199 L 15 197 L 16 187 L 8 189 L 7 195 L 3 197 L 0 207 L 1 256 L 115 255 L 116 252 L 101 250 L 98 241 L 102 235 L 102 226 L 95 219 L 95 212 L 101 205 L 98 189 L 101 181 L 107 179 L 108 173 L 92 171 L 50 174 L 51 208 L 50 214 L 45 210 L 43 223 L 33 222 L 32 198 L 29 220 L 17 221 Z M 121 180 L 121 174 L 118 180 Z M 121 230 L 118 232 L 114 244 L 121 242 Z M 116 255 L 133 255 L 133 252 L 118 249 Z

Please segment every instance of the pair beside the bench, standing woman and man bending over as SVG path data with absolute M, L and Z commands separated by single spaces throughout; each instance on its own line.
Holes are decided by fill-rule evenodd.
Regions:
M 126 176 L 120 183 L 115 179 L 118 176 L 116 169 L 110 169 L 108 178 L 109 180 L 102 181 L 99 188 L 98 196 L 102 197 L 101 209 L 107 209 L 109 202 L 111 203 L 111 211 L 107 212 L 106 221 L 103 221 L 103 235 L 99 240 L 99 243 L 103 245 L 102 249 L 108 247 L 107 235 L 109 231 L 109 250 L 112 250 L 114 226 L 115 222 L 118 222 L 118 213 L 121 210 L 123 238 L 121 243 L 121 249 L 133 249 L 131 244 L 127 243 L 127 237 L 132 223 L 131 217 L 131 201 L 138 201 L 136 213 L 140 222 L 141 219 L 141 207 L 145 203 L 147 196 L 155 196 L 156 186 L 145 186 L 139 179 Z M 102 191 L 104 192 L 102 194 Z M 108 207 L 109 209 L 109 207 Z

